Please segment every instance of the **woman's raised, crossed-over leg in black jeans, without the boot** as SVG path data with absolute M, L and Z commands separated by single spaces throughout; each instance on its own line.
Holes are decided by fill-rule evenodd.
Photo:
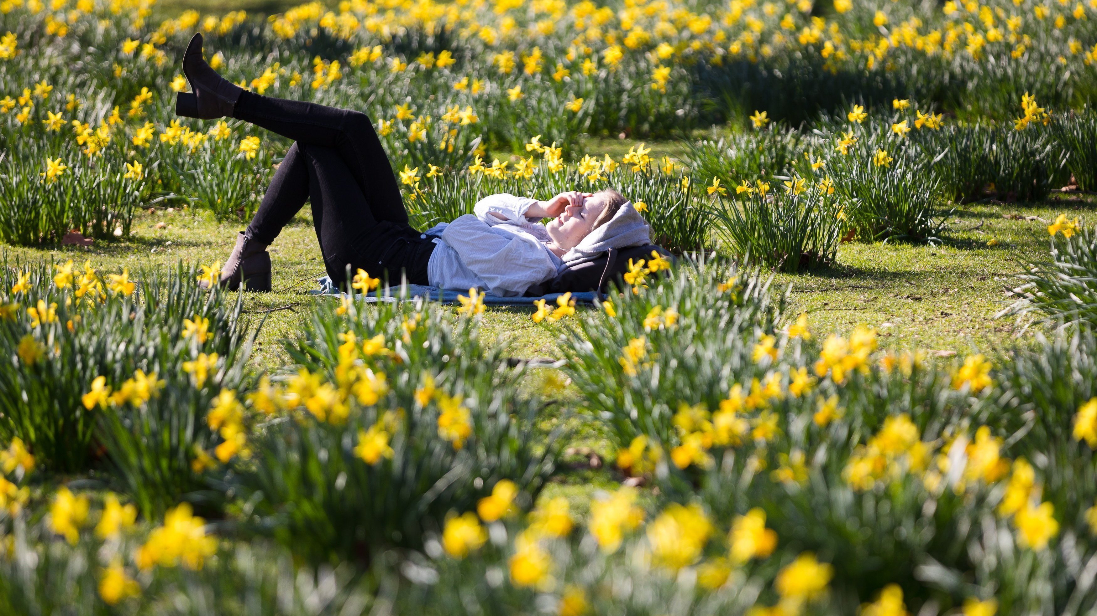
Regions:
M 374 219 L 408 224 L 392 164 L 364 113 L 244 92 L 233 115 L 298 144 L 335 149 Z

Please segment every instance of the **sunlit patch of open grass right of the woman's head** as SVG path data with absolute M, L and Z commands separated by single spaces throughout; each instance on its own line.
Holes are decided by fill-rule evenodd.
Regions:
M 867 323 L 887 346 L 1000 349 L 1020 328 L 994 315 L 1010 301 L 1025 263 L 1048 259 L 1047 220 L 1071 212 L 1085 217 L 1095 208 L 1092 195 L 1077 194 L 1053 194 L 1039 204 L 963 205 L 949 217 L 939 246 L 846 243 L 836 266 L 778 275 L 774 284 L 792 285 L 793 309 L 806 310 L 819 331 Z

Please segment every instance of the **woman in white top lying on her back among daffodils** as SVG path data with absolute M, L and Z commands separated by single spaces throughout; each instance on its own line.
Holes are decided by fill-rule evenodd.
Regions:
M 609 249 L 651 243 L 647 223 L 612 189 L 548 201 L 490 195 L 475 214 L 421 233 L 408 224 L 392 166 L 365 114 L 245 91 L 203 60 L 201 34 L 186 48 L 183 72 L 193 92 L 178 94 L 177 114 L 230 116 L 295 141 L 222 270 L 220 284 L 230 289 L 244 284 L 270 290 L 267 247 L 306 199 L 325 269 L 339 286 L 349 265 L 393 284 L 406 280 L 518 296 Z M 542 225 L 542 218 L 552 221 Z

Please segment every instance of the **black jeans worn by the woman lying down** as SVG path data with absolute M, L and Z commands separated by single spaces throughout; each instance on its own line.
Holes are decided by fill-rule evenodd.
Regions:
M 399 284 L 429 284 L 434 244 L 408 224 L 396 176 L 361 112 L 244 92 L 234 116 L 296 141 L 245 233 L 269 244 L 309 199 L 324 265 L 342 285 L 347 266 Z

